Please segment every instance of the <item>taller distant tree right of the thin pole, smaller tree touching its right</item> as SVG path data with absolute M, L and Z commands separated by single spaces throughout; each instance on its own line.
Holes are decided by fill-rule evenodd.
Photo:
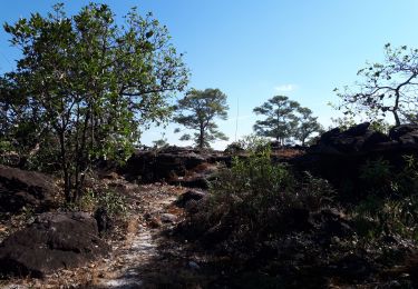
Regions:
M 284 96 L 275 96 L 254 108 L 256 114 L 263 114 L 264 120 L 257 120 L 254 124 L 254 131 L 259 136 L 275 138 L 281 144 L 290 140 L 298 127 L 298 117 L 295 114 L 300 104 L 297 101 L 289 100 Z

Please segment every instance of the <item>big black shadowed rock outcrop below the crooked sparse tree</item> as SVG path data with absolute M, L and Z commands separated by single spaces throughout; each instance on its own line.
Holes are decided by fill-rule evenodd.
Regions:
M 299 170 L 308 170 L 330 180 L 337 188 L 361 186 L 359 176 L 368 160 L 385 159 L 399 170 L 405 155 L 418 156 L 418 126 L 404 124 L 392 128 L 389 134 L 370 129 L 364 122 L 346 131 L 332 129 L 321 136 L 305 155 L 294 158 Z

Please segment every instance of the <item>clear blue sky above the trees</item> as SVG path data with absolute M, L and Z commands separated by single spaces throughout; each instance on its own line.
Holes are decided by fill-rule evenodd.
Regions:
M 89 1 L 61 1 L 69 13 Z M 252 132 L 252 109 L 275 94 L 309 107 L 328 127 L 338 113 L 333 88 L 352 84 L 367 60 L 380 61 L 387 42 L 418 48 L 416 0 L 113 0 L 117 17 L 133 6 L 153 12 L 185 52 L 191 88 L 218 88 L 229 97 L 230 119 L 221 129 L 235 139 Z M 56 1 L 3 0 L 0 20 L 45 13 Z M 0 73 L 18 57 L 0 32 Z M 181 96 L 179 96 L 181 97 Z M 239 106 L 237 106 L 239 103 Z M 239 109 L 237 109 L 239 107 Z M 239 111 L 239 113 L 237 113 Z M 237 117 L 239 114 L 239 117 Z M 163 131 L 177 141 L 173 126 L 143 134 L 149 144 Z M 215 148 L 223 148 L 217 143 Z

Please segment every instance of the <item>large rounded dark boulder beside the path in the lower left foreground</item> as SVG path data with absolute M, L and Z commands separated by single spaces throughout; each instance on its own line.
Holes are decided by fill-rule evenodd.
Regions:
M 97 223 L 86 212 L 46 212 L 0 246 L 0 273 L 42 278 L 82 266 L 108 252 Z

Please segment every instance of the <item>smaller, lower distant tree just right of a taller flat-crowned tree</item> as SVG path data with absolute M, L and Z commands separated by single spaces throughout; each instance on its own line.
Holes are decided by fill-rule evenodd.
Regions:
M 318 118 L 312 116 L 312 110 L 309 108 L 298 108 L 298 128 L 295 130 L 295 139 L 300 140 L 302 146 L 305 146 L 307 140 L 318 132 L 323 131 L 322 126 L 318 122 Z

